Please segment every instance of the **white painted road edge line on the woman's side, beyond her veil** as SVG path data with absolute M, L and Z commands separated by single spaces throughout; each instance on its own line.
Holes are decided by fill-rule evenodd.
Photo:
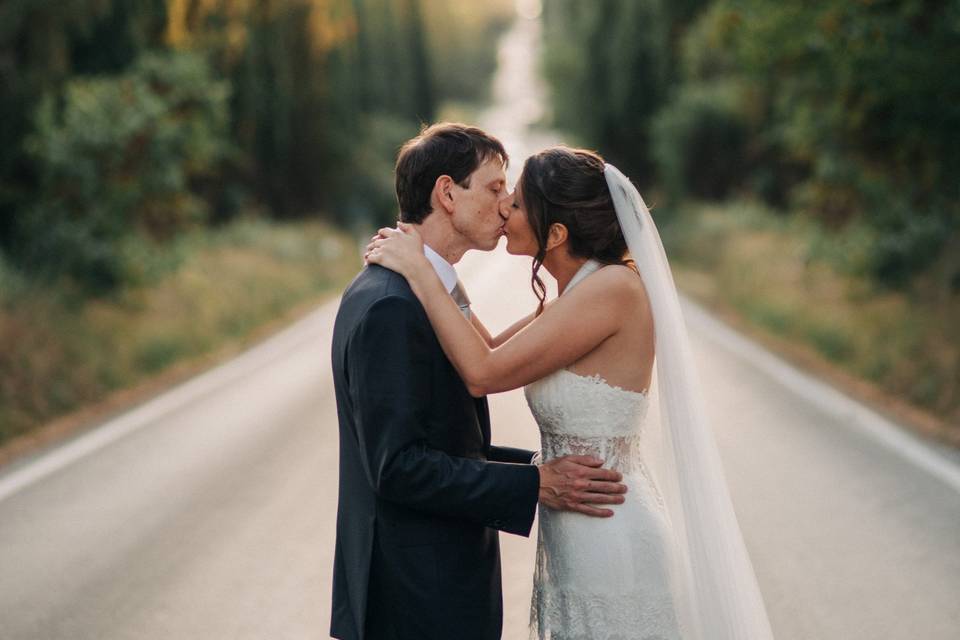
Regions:
M 960 493 L 960 465 L 938 454 L 903 427 L 751 342 L 689 298 L 683 298 L 683 307 L 691 331 L 703 334 L 841 424 L 871 437 Z

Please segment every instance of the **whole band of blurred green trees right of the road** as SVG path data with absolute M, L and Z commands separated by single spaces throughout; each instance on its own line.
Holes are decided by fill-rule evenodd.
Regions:
M 960 3 L 545 0 L 556 122 L 684 198 L 856 233 L 857 265 L 960 290 Z

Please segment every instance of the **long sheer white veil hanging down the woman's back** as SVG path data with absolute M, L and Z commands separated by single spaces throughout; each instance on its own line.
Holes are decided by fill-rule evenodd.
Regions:
M 660 234 L 630 180 L 610 164 L 604 175 L 653 312 L 663 449 L 659 484 L 676 539 L 671 579 L 684 638 L 772 640 L 706 420 L 690 339 Z

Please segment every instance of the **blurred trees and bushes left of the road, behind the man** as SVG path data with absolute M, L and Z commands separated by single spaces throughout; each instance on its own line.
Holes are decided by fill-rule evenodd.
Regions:
M 485 97 L 512 10 L 5 0 L 3 270 L 103 293 L 140 281 L 177 234 L 240 212 L 394 219 L 396 149 L 446 102 Z

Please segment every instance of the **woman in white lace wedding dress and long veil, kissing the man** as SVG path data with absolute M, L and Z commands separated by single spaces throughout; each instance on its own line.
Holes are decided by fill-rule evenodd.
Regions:
M 524 387 L 544 460 L 596 455 L 623 474 L 629 491 L 613 518 L 541 505 L 531 635 L 772 638 L 640 194 L 599 155 L 554 147 L 527 159 L 500 214 L 507 251 L 533 257 L 540 300 L 503 344 L 460 313 L 412 227 L 382 229 L 367 259 L 407 278 L 473 395 Z M 549 303 L 541 268 L 558 285 Z M 654 378 L 658 425 L 646 419 Z

